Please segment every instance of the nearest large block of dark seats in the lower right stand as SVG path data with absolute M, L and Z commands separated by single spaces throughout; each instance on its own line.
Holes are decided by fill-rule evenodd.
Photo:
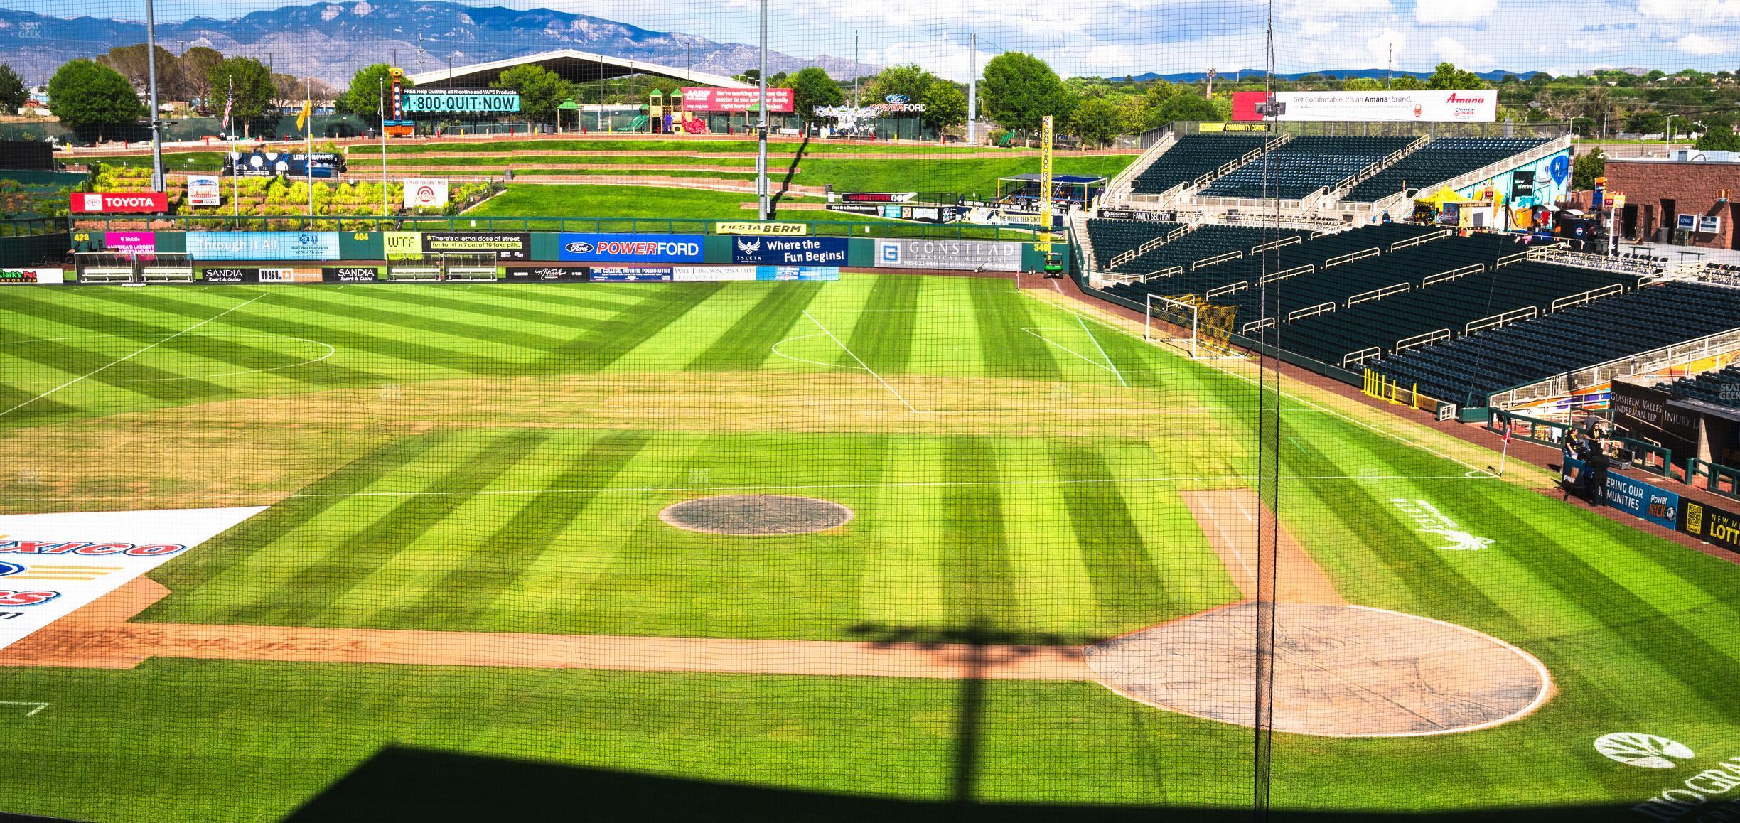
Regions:
M 1500 270 L 1509 271 L 1512 266 Z M 1486 395 L 1495 391 L 1723 332 L 1740 325 L 1737 318 L 1740 289 L 1667 282 L 1368 365 L 1397 383 L 1416 383 L 1430 397 L 1484 405 Z M 1710 393 L 1721 397 L 1723 379 L 1728 378 L 1679 381 L 1676 390 L 1684 385 L 1686 397 L 1707 400 Z

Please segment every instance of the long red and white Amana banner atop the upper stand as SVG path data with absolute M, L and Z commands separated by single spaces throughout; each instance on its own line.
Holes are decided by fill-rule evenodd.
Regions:
M 1498 92 L 1369 90 L 1369 92 L 1232 92 L 1234 120 L 1382 120 L 1489 124 L 1498 120 Z

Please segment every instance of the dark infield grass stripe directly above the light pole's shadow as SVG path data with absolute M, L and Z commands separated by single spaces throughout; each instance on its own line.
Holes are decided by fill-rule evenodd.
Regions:
M 954 437 L 948 463 L 938 468 L 950 480 L 973 484 L 943 489 L 943 579 L 952 628 L 1025 628 L 1009 572 L 994 442 Z

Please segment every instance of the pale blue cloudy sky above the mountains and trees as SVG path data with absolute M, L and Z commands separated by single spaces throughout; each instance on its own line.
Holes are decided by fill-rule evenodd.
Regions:
M 3 0 L 42 14 L 143 17 L 143 0 Z M 158 19 L 231 17 L 280 0 L 160 0 Z M 472 3 L 484 5 L 484 3 Z M 506 0 L 712 40 L 755 42 L 759 0 Z M 1267 3 L 1256 0 L 769 0 L 771 45 L 795 56 L 917 61 L 964 78 L 969 35 L 980 63 L 1041 54 L 1065 73 L 1260 68 Z M 1740 68 L 1740 0 L 1275 0 L 1282 71 L 1404 70 L 1449 59 L 1474 70 L 1596 66 Z

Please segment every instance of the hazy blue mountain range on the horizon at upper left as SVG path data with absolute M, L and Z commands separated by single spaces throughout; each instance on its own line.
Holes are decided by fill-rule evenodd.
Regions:
M 26 84 L 44 84 L 63 63 L 94 57 L 115 45 L 144 42 L 144 23 L 101 17 L 52 17 L 0 9 L 0 61 L 9 63 Z M 249 56 L 273 71 L 317 77 L 346 84 L 358 68 L 390 63 L 397 56 L 405 71 L 430 71 L 447 64 L 485 63 L 552 49 L 579 49 L 612 57 L 642 59 L 673 68 L 738 75 L 759 64 L 760 54 L 746 43 L 719 43 L 677 31 L 651 31 L 585 14 L 550 9 L 503 9 L 461 5 L 442 0 L 355 0 L 339 3 L 285 5 L 231 19 L 191 17 L 158 23 L 157 43 L 177 52 L 204 45 L 226 56 Z M 689 63 L 693 61 L 693 63 Z M 837 78 L 849 78 L 854 63 L 820 56 L 800 59 L 767 52 L 767 71 L 797 71 L 821 66 Z M 873 73 L 880 66 L 858 64 Z

